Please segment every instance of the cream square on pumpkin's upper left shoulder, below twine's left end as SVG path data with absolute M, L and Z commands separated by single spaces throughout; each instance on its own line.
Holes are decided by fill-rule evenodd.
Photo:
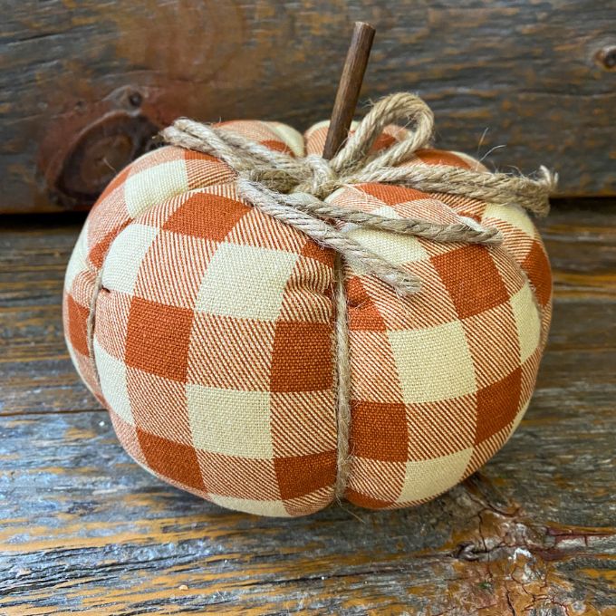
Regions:
M 186 162 L 171 160 L 130 174 L 124 183 L 124 200 L 130 216 L 135 218 L 148 207 L 187 190 Z

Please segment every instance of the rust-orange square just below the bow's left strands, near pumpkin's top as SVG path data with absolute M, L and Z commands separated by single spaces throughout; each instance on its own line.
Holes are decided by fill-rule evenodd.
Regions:
M 162 228 L 220 242 L 249 210 L 250 207 L 234 199 L 195 193 L 168 217 Z

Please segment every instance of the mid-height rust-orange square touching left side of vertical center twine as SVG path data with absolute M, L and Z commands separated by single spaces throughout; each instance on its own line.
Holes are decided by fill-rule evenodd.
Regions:
M 315 391 L 332 387 L 329 323 L 278 322 L 274 333 L 271 391 Z

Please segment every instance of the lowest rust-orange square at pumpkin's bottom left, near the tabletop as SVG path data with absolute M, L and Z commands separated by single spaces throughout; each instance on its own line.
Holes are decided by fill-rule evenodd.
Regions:
M 195 449 L 160 438 L 137 428 L 137 436 L 148 466 L 159 475 L 177 481 L 183 486 L 205 490 Z

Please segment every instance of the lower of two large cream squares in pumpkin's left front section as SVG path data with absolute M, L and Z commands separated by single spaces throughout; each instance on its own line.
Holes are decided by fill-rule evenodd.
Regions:
M 269 396 L 267 391 L 187 385 L 195 447 L 226 456 L 271 459 Z

